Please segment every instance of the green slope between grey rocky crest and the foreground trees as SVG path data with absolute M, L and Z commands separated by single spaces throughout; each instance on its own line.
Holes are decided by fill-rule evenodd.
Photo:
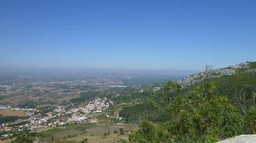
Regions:
M 232 76 L 207 79 L 196 86 L 210 82 L 215 83 L 217 95 L 228 96 L 233 105 L 239 108 L 243 114 L 247 112 L 251 105 L 254 105 L 255 98 L 253 93 L 256 92 L 255 74 L 238 73 Z

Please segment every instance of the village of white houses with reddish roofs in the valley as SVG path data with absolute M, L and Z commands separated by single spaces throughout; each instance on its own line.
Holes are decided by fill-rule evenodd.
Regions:
M 96 123 L 97 118 L 93 113 L 102 113 L 104 110 L 114 105 L 113 101 L 108 98 L 94 98 L 85 106 L 75 107 L 73 103 L 68 105 L 58 105 L 54 110 L 47 113 L 40 113 L 40 110 L 33 108 L 13 108 L 11 106 L 0 106 L 0 110 L 12 110 L 12 112 L 25 113 L 25 117 L 16 120 L 15 122 L 1 123 L 0 131 L 6 134 L 1 135 L 1 138 L 12 136 L 12 132 L 39 131 L 41 129 L 53 128 L 59 125 L 65 125 L 73 122 L 89 122 Z M 117 118 L 107 115 L 109 118 Z

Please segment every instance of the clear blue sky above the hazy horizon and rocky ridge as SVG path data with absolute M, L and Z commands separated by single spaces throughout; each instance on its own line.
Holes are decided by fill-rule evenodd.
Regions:
M 201 70 L 256 61 L 256 1 L 0 1 L 0 67 Z

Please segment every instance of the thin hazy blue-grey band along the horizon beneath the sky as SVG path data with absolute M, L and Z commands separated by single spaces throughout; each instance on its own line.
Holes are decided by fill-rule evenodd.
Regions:
M 177 69 L 68 69 L 68 68 L 4 68 L 0 67 L 0 74 L 66 74 L 66 75 L 95 75 L 95 74 L 123 74 L 141 76 L 169 76 L 184 77 L 196 74 L 198 71 Z

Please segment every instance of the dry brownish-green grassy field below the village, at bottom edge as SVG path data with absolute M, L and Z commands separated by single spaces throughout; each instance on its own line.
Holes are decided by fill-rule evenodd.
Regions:
M 68 125 L 55 129 L 38 132 L 37 142 L 117 142 L 119 139 L 128 140 L 129 132 L 136 131 L 138 125 L 134 124 L 90 124 Z M 120 131 L 121 130 L 121 131 Z

